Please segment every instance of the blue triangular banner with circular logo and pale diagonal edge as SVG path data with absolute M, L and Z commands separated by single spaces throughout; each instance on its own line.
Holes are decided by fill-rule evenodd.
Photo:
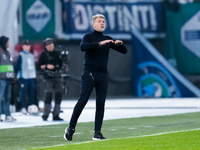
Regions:
M 200 97 L 200 91 L 185 79 L 134 27 L 133 93 L 138 97 Z

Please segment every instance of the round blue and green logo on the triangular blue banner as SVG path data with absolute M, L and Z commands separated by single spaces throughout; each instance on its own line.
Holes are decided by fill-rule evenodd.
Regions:
M 180 92 L 169 72 L 156 62 L 138 66 L 140 73 L 137 89 L 139 97 L 180 97 Z

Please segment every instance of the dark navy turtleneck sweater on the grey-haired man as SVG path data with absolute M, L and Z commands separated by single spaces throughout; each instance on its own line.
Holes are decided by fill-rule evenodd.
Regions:
M 107 72 L 110 48 L 123 54 L 127 53 L 127 48 L 124 44 L 116 45 L 114 43 L 107 43 L 100 46 L 98 43 L 103 40 L 114 39 L 110 36 L 103 35 L 102 32 L 95 30 L 83 37 L 80 44 L 80 49 L 81 51 L 85 52 L 85 70 Z

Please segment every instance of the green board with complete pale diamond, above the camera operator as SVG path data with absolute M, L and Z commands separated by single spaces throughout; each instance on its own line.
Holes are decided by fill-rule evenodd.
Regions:
M 23 39 L 54 37 L 54 0 L 23 0 Z

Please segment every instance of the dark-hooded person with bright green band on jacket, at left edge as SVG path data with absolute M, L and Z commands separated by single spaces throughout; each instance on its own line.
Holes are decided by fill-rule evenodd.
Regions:
M 12 64 L 9 51 L 9 38 L 6 36 L 0 37 L 0 121 L 2 113 L 2 102 L 5 114 L 4 121 L 16 121 L 10 113 L 10 100 L 11 100 L 11 82 L 14 81 L 14 67 Z

